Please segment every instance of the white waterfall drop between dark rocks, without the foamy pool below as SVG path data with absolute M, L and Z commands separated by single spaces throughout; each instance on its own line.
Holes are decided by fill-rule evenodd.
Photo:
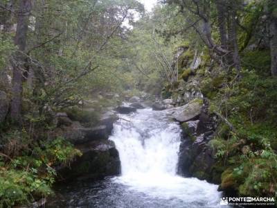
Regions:
M 122 175 L 175 175 L 179 125 L 166 121 L 164 112 L 152 110 L 140 110 L 123 119 L 114 125 L 110 138 L 120 154 Z

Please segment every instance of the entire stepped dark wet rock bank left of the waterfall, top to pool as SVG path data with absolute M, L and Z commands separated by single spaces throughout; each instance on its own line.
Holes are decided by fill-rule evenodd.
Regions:
M 85 108 L 82 112 L 94 112 L 94 109 Z M 57 113 L 56 118 L 59 128 L 55 129 L 51 137 L 64 137 L 82 151 L 82 156 L 76 157 L 70 167 L 57 167 L 60 180 L 75 180 L 77 177 L 98 180 L 120 173 L 118 151 L 114 142 L 108 140 L 113 124 L 118 119 L 115 111 L 109 110 L 99 115 L 95 118 L 96 122 L 89 126 L 80 121 L 71 121 L 64 112 Z

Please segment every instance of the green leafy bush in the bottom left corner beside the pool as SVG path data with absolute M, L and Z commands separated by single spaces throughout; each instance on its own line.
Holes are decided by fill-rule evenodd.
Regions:
M 28 204 L 52 193 L 55 182 L 55 166 L 66 165 L 80 150 L 73 148 L 62 138 L 40 142 L 32 152 L 5 162 L 0 155 L 0 207 Z

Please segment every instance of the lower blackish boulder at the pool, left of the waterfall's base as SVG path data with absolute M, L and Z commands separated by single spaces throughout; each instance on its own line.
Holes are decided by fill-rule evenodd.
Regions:
M 57 168 L 57 173 L 63 180 L 75 177 L 98 180 L 120 174 L 120 159 L 114 141 L 91 141 L 76 148 L 82 151 L 82 156 L 76 157 L 70 167 Z

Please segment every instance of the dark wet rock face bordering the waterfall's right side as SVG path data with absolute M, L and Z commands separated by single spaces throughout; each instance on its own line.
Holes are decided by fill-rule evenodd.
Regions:
M 199 120 L 181 124 L 183 140 L 179 150 L 178 174 L 219 184 L 223 165 L 217 162 L 209 145 L 214 137 L 215 121 L 208 115 L 206 105 L 201 107 L 199 114 Z

